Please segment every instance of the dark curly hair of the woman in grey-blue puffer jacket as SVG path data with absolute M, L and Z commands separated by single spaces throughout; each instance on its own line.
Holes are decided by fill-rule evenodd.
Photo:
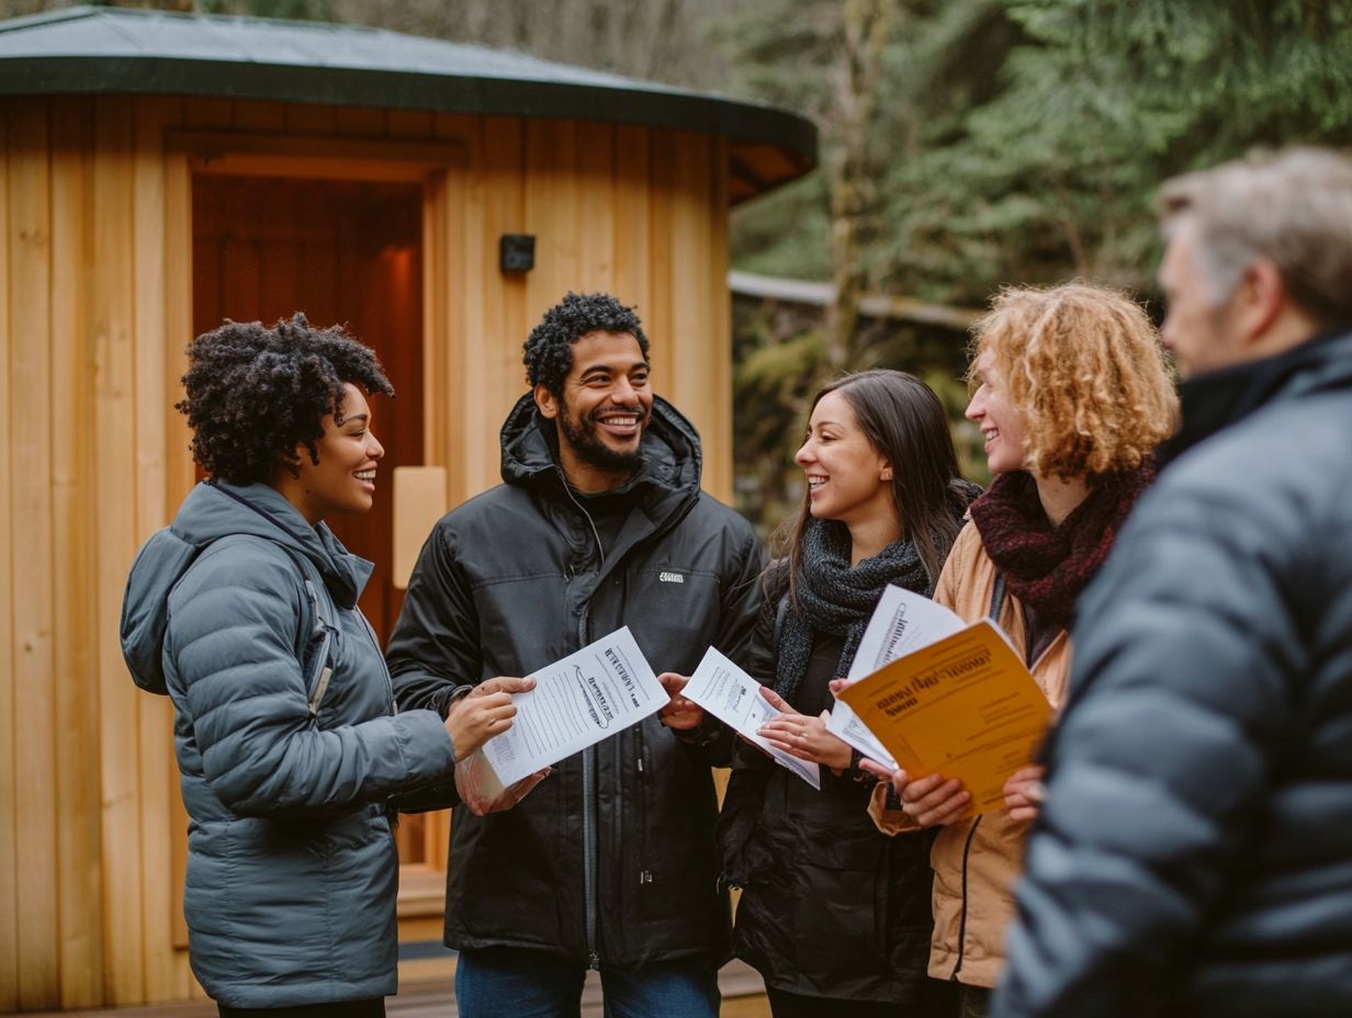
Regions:
M 188 415 L 192 458 L 211 477 L 268 483 L 279 464 L 295 472 L 299 445 L 319 462 L 315 443 L 323 419 L 341 412 L 343 383 L 395 395 L 375 350 L 342 326 L 314 329 L 300 312 L 272 329 L 227 319 L 188 343 L 188 395 L 174 410 Z

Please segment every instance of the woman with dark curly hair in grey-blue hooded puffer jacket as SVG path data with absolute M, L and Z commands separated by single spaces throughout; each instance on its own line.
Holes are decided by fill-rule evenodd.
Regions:
M 188 361 L 177 410 L 208 480 L 137 557 L 123 650 L 173 699 L 192 969 L 223 1015 L 381 1015 L 395 796 L 449 783 L 527 683 L 489 680 L 445 721 L 396 708 L 357 608 L 370 564 L 324 525 L 375 498 L 368 397 L 393 389 L 372 350 L 296 315 L 227 322 Z

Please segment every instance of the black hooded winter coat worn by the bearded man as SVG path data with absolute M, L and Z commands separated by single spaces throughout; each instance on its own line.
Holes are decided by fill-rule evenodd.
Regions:
M 710 645 L 745 658 L 760 543 L 700 492 L 694 427 L 654 402 L 625 488 L 634 507 L 604 560 L 552 429 L 525 396 L 503 425 L 506 484 L 429 537 L 388 650 L 402 708 L 445 711 L 461 683 L 530 675 L 625 625 L 657 672 L 690 675 Z M 564 760 L 512 810 L 457 807 L 446 944 L 617 967 L 725 961 L 710 765 L 726 764 L 730 735 L 714 733 L 685 742 L 654 715 Z

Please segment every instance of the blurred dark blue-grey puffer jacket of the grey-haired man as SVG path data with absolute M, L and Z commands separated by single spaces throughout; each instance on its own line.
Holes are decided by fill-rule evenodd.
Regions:
M 1352 335 L 1183 411 L 1080 603 L 1005 1018 L 1352 1014 Z

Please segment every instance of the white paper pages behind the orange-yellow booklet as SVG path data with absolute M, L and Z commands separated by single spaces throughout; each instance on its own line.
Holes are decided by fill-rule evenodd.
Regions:
M 888 584 L 859 641 L 846 679 L 863 679 L 898 657 L 950 637 L 967 623 L 922 593 Z M 848 703 L 836 702 L 826 730 L 864 756 L 896 769 L 896 761 Z

